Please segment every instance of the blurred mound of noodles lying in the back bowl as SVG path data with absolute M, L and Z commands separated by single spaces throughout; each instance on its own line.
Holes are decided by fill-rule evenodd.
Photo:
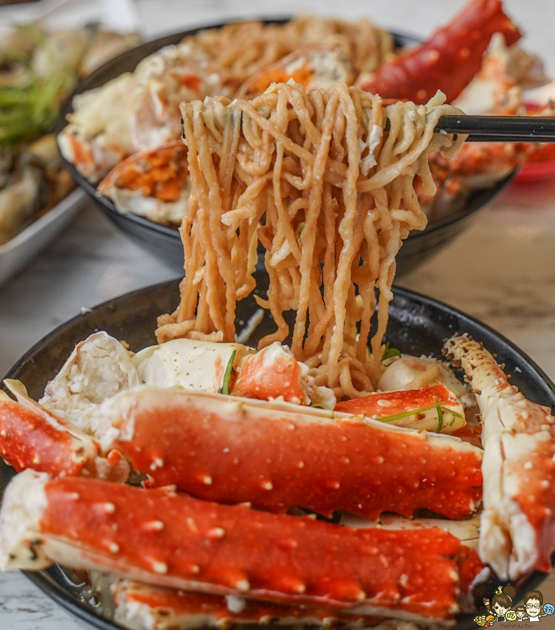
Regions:
M 338 45 L 361 73 L 376 71 L 392 51 L 392 36 L 368 20 L 343 22 L 313 15 L 282 25 L 236 22 L 200 31 L 184 43 L 209 60 L 209 70 L 219 73 L 228 95 L 255 72 L 301 48 Z

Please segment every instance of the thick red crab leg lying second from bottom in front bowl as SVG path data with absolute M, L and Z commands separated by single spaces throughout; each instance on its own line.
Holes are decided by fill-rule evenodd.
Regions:
M 427 508 L 460 519 L 481 496 L 481 449 L 447 435 L 151 387 L 114 396 L 103 412 L 111 424 L 101 437 L 105 449 L 125 454 L 151 486 L 177 484 L 206 500 L 371 519 Z

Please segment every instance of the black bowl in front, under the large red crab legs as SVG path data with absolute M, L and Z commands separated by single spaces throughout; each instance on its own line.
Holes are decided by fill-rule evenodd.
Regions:
M 266 275 L 258 274 L 257 281 L 257 290 L 265 293 Z M 27 386 L 29 395 L 38 399 L 47 381 L 60 370 L 75 344 L 97 330 L 106 330 L 116 339 L 125 339 L 134 351 L 155 343 L 153 330 L 156 316 L 163 312 L 172 312 L 177 306 L 178 297 L 178 281 L 170 281 L 100 304 L 51 332 L 29 350 L 6 377 L 20 379 Z M 252 296 L 238 303 L 238 329 L 256 308 Z M 273 322 L 266 314 L 249 343 L 254 345 L 260 337 L 273 329 Z M 468 332 L 474 339 L 483 342 L 488 350 L 497 353 L 498 362 L 505 363 L 507 373 L 513 375 L 512 383 L 530 400 L 555 407 L 555 386 L 526 354 L 507 339 L 446 304 L 408 290 L 395 289 L 387 332 L 388 342 L 392 346 L 416 356 L 431 354 L 439 357 L 443 340 L 451 337 L 454 332 Z M 13 469 L 0 459 L 0 492 L 4 491 L 12 475 Z M 38 573 L 27 573 L 27 577 L 81 622 L 88 622 L 90 626 L 104 630 L 121 627 L 102 615 L 90 594 L 85 594 L 76 584 L 74 575 L 64 568 L 55 565 Z M 526 591 L 535 589 L 545 577 L 545 573 L 535 571 L 515 582 L 515 601 L 522 598 Z M 498 585 L 492 578 L 475 589 L 474 597 L 478 607 L 481 606 L 484 596 L 491 598 Z M 474 616 L 475 614 L 460 615 L 458 624 L 452 626 L 453 630 L 475 629 Z

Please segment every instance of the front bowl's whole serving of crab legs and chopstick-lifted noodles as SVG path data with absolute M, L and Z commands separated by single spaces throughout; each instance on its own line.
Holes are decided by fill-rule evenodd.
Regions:
M 479 340 L 444 361 L 384 343 L 415 183 L 434 194 L 430 155 L 465 139 L 434 129 L 459 113 L 345 82 L 182 102 L 179 306 L 137 353 L 84 339 L 39 401 L 5 381 L 1 568 L 86 570 L 117 622 L 158 630 L 449 626 L 492 571 L 549 570 L 549 409 Z M 259 311 L 235 329 L 251 294 L 257 348 Z

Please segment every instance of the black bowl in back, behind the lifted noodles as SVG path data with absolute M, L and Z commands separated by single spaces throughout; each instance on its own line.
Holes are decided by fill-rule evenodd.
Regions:
M 285 19 L 266 20 L 268 22 L 285 22 Z M 58 130 L 65 126 L 68 113 L 73 111 L 71 102 L 75 94 L 81 94 L 87 90 L 100 87 L 109 80 L 116 78 L 123 72 L 132 72 L 139 62 L 160 50 L 163 46 L 176 44 L 187 35 L 193 35 L 201 28 L 221 27 L 222 24 L 209 25 L 184 31 L 174 35 L 169 35 L 155 41 L 142 44 L 137 48 L 123 52 L 115 59 L 111 59 L 107 64 L 83 79 L 76 87 L 76 90 L 64 104 L 60 113 Z M 394 33 L 395 44 L 398 48 L 419 43 L 418 39 L 411 36 Z M 64 159 L 64 158 L 62 158 Z M 114 202 L 107 197 L 97 196 L 96 186 L 85 179 L 71 162 L 64 159 L 65 167 L 71 173 L 83 190 L 93 197 L 100 204 L 108 218 L 115 223 L 125 234 L 131 237 L 137 244 L 153 253 L 173 269 L 181 271 L 183 269 L 183 246 L 179 239 L 177 228 L 154 223 L 147 218 L 135 214 L 121 214 L 116 210 Z M 397 254 L 397 277 L 411 272 L 437 253 L 442 247 L 448 244 L 462 230 L 467 228 L 472 216 L 477 211 L 483 209 L 500 191 L 507 186 L 512 179 L 512 174 L 495 185 L 474 191 L 470 197 L 460 204 L 460 200 L 454 200 L 451 211 L 442 211 L 441 218 L 437 220 L 434 216 L 430 218 L 430 223 L 423 232 L 411 232 L 409 238 L 404 241 L 404 245 Z

